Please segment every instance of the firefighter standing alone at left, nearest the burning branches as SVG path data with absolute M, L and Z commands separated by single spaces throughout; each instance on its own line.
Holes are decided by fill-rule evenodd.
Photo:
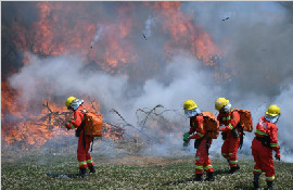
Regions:
M 89 153 L 90 142 L 92 142 L 92 137 L 86 136 L 84 130 L 85 123 L 82 109 L 84 100 L 77 99 L 75 97 L 68 97 L 65 105 L 68 110 L 74 112 L 74 119 L 66 123 L 65 127 L 69 129 L 76 129 L 76 137 L 78 137 L 77 145 L 77 160 L 79 162 L 79 175 L 81 177 L 87 176 L 87 167 L 89 167 L 89 173 L 94 174 L 95 169 L 93 167 L 94 163 Z

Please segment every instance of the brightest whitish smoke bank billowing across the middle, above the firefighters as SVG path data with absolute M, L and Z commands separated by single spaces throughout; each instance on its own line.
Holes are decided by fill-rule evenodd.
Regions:
M 63 100 L 68 94 L 88 94 L 105 110 L 116 109 L 135 122 L 137 109 L 163 104 L 181 110 L 187 99 L 195 99 L 202 110 L 213 110 L 211 101 L 219 94 L 220 88 L 215 85 L 213 73 L 199 66 L 200 62 L 191 55 L 179 53 L 162 71 L 160 79 L 145 80 L 139 96 L 131 96 L 127 89 L 136 86 L 123 74 L 91 71 L 76 56 L 34 56 L 27 66 L 10 77 L 10 84 L 22 91 L 21 102 L 41 102 L 47 96 L 46 89 L 54 91 L 54 96 L 63 97 Z

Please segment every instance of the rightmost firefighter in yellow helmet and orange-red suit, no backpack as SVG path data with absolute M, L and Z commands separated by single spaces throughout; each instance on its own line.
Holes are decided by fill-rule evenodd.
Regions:
M 268 107 L 266 115 L 260 117 L 252 142 L 252 154 L 254 157 L 254 188 L 259 188 L 258 179 L 262 172 L 266 173 L 267 189 L 272 189 L 275 180 L 275 167 L 272 150 L 276 152 L 276 160 L 281 159 L 280 147 L 277 138 L 277 125 L 280 117 L 280 107 L 276 104 Z

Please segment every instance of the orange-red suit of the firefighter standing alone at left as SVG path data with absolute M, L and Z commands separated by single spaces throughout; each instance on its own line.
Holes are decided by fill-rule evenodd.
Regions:
M 89 153 L 90 142 L 92 142 L 92 137 L 86 136 L 84 128 L 84 113 L 81 112 L 82 105 L 79 105 L 76 111 L 74 111 L 74 119 L 66 124 L 67 129 L 79 128 L 80 132 L 78 136 L 77 145 L 77 160 L 79 162 L 79 168 L 87 168 L 88 166 L 93 166 L 94 163 Z

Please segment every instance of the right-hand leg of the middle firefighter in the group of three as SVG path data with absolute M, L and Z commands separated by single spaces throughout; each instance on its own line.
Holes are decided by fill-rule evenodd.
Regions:
M 229 174 L 233 174 L 235 170 L 240 169 L 238 164 L 237 152 L 240 143 L 240 138 L 234 139 L 233 137 L 230 138 L 229 144 L 229 164 L 230 170 Z

